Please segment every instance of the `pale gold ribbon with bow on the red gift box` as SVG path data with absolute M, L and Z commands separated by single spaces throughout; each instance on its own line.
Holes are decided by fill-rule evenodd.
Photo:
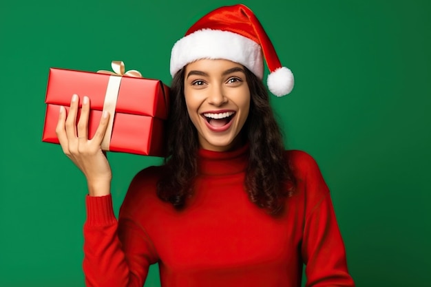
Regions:
M 121 78 L 123 76 L 131 76 L 134 78 L 142 78 L 142 74 L 136 70 L 129 70 L 125 72 L 125 65 L 123 61 L 112 61 L 111 67 L 114 72 L 99 70 L 98 73 L 109 74 L 109 81 L 106 88 L 105 100 L 103 102 L 103 111 L 109 112 L 109 123 L 103 137 L 101 147 L 104 151 L 109 151 L 109 144 L 111 142 L 112 127 L 114 126 L 115 107 L 117 104 L 118 91 L 120 90 Z

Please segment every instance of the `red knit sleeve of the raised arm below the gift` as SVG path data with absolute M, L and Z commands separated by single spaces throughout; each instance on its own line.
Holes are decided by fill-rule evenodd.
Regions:
M 86 206 L 83 260 L 86 286 L 142 287 L 149 265 L 157 261 L 143 227 L 121 215 L 117 222 L 111 195 L 87 196 Z

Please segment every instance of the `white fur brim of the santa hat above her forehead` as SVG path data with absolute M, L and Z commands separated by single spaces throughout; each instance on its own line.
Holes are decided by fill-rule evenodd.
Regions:
M 229 31 L 198 30 L 178 40 L 171 52 L 171 76 L 199 59 L 226 59 L 240 63 L 260 79 L 264 73 L 260 45 Z

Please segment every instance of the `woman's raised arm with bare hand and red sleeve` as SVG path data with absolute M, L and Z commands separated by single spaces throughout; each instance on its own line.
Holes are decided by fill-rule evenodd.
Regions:
M 118 224 L 112 207 L 110 186 L 112 172 L 101 142 L 109 114 L 103 113 L 96 133 L 88 138 L 90 99 L 83 98 L 81 116 L 78 96 L 72 96 L 70 111 L 61 107 L 56 134 L 66 154 L 87 179 L 87 220 L 84 224 L 83 269 L 87 286 L 139 286 L 154 263 L 145 231 L 132 219 L 124 217 Z

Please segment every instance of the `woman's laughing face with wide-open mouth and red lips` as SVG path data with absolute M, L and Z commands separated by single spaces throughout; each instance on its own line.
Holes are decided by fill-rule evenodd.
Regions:
M 227 151 L 242 144 L 240 131 L 249 116 L 250 90 L 244 67 L 228 60 L 202 59 L 185 68 L 185 100 L 199 144 Z

